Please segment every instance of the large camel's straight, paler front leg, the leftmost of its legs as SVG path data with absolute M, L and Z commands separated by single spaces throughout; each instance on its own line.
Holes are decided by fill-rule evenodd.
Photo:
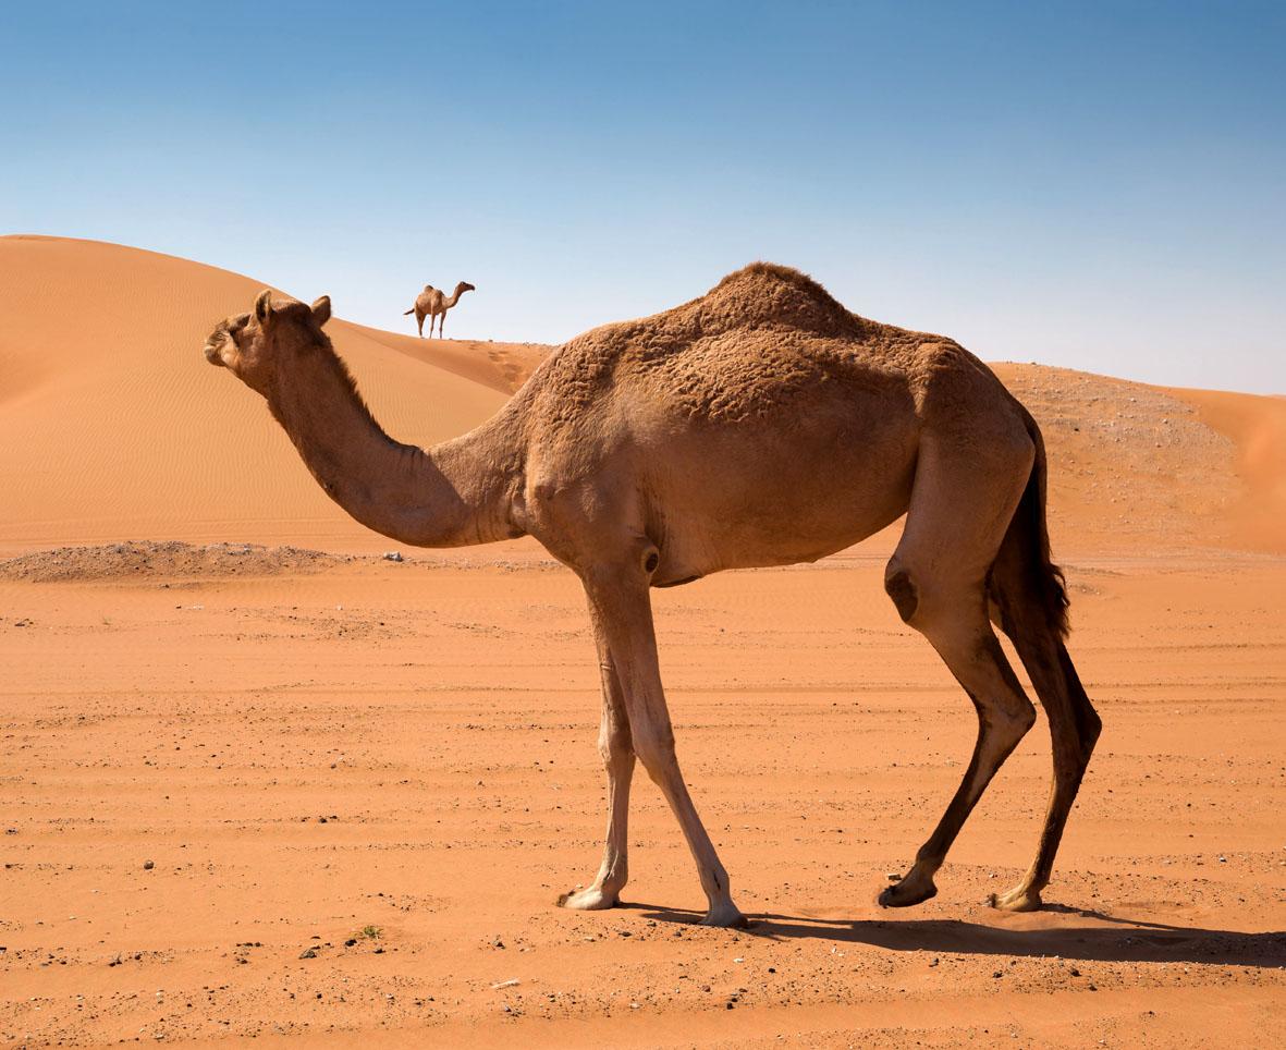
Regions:
M 562 894 L 558 903 L 563 907 L 595 911 L 615 907 L 629 878 L 626 854 L 634 742 L 630 739 L 630 719 L 625 709 L 621 679 L 616 673 L 607 638 L 593 605 L 590 622 L 594 628 L 594 645 L 598 649 L 598 670 L 603 679 L 603 718 L 598 730 L 598 750 L 607 767 L 607 844 L 603 847 L 603 863 L 593 885 Z

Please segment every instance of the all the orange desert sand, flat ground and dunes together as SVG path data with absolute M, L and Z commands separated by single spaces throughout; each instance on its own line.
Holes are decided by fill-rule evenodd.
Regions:
M 1046 434 L 1105 722 L 1040 912 L 984 902 L 1035 845 L 1042 724 L 939 896 L 874 905 L 974 737 L 882 591 L 899 526 L 657 592 L 680 755 L 754 920 L 709 930 L 642 775 L 628 906 L 554 906 L 603 830 L 579 584 L 530 542 L 381 557 L 201 356 L 265 283 L 0 238 L 0 1038 L 1286 1041 L 1286 400 L 995 365 Z M 548 353 L 328 331 L 418 443 Z

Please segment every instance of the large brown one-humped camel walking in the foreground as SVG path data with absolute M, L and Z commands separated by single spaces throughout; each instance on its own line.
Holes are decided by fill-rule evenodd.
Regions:
M 687 838 L 702 921 L 745 924 L 679 769 L 649 588 L 815 561 L 905 513 L 885 589 L 963 686 L 977 739 L 914 865 L 878 902 L 936 894 L 946 851 L 1035 722 L 994 623 L 1047 713 L 1053 785 L 1030 869 L 990 903 L 1040 907 L 1101 722 L 1065 646 L 1040 431 L 977 358 L 756 262 L 701 299 L 571 340 L 491 419 L 421 449 L 372 417 L 323 331 L 329 317 L 324 296 L 307 306 L 265 291 L 215 328 L 204 354 L 267 400 L 322 488 L 361 524 L 419 547 L 531 535 L 584 584 L 608 821 L 597 878 L 559 903 L 620 902 L 638 759 Z

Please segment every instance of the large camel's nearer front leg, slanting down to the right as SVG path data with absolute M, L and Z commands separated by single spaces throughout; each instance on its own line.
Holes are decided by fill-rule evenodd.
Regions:
M 634 754 L 670 803 L 697 863 L 701 888 L 709 902 L 701 921 L 710 926 L 743 926 L 746 917 L 733 903 L 728 872 L 697 816 L 675 757 L 674 730 L 656 655 L 647 575 L 630 566 L 586 573 L 583 579 L 625 695 Z

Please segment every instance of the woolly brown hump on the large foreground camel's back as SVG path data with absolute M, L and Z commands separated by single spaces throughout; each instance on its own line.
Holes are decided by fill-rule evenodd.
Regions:
M 775 262 L 751 262 L 728 274 L 692 306 L 702 328 L 787 327 L 822 336 L 854 335 L 860 319 L 811 277 Z

